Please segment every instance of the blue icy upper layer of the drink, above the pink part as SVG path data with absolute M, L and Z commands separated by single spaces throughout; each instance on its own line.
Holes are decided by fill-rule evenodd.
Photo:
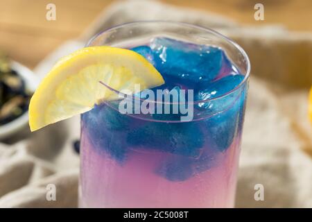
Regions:
M 153 91 L 193 89 L 194 101 L 203 101 L 226 94 L 244 78 L 225 52 L 214 46 L 157 37 L 132 50 L 162 74 L 165 84 Z M 211 115 L 189 122 L 178 122 L 179 113 L 152 114 L 155 121 L 150 121 L 121 114 L 106 104 L 98 105 L 82 114 L 83 130 L 99 152 L 108 153 L 125 167 L 134 150 L 168 153 L 155 173 L 168 180 L 187 180 L 213 167 L 214 156 L 225 153 L 241 132 L 245 89 L 243 86 L 221 99 L 194 104 L 194 115 Z M 159 122 L 164 119 L 177 122 Z

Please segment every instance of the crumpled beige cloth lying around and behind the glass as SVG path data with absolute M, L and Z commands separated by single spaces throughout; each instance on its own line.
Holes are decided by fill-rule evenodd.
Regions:
M 312 130 L 307 115 L 312 84 L 312 37 L 281 26 L 248 27 L 212 13 L 157 1 L 114 3 L 78 40 L 66 42 L 35 69 L 43 77 L 58 58 L 85 45 L 110 26 L 168 19 L 214 28 L 234 38 L 252 62 L 236 207 L 312 207 Z M 0 207 L 77 207 L 79 117 L 48 126 L 24 139 L 0 144 Z M 310 155 L 309 155 L 310 154 Z M 56 200 L 47 200 L 55 185 Z M 255 200 L 255 185 L 264 200 Z M 47 187 L 48 186 L 48 187 Z M 48 198 L 49 199 L 49 198 Z

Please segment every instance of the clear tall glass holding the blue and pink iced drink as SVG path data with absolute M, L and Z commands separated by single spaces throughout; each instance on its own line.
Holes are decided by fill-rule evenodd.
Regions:
M 177 90 L 177 100 L 150 99 L 149 108 L 184 104 L 191 118 L 123 114 L 121 99 L 82 114 L 80 207 L 234 207 L 250 71 L 243 49 L 208 28 L 159 21 L 115 26 L 87 46 L 102 45 L 137 51 L 164 77 L 157 89 Z

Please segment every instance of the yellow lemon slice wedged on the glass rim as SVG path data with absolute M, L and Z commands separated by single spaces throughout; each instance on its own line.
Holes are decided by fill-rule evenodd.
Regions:
M 164 84 L 159 72 L 143 56 L 128 49 L 94 46 L 60 59 L 42 80 L 29 105 L 31 131 L 87 112 L 103 100 L 116 99 L 113 89 L 134 85 L 148 89 Z

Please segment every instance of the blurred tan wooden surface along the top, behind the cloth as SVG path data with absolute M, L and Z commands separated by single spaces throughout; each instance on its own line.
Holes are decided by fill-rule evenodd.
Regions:
M 114 0 L 0 0 L 0 51 L 33 68 L 56 46 L 80 33 Z M 117 0 L 115 0 L 117 1 Z M 144 1 L 144 0 L 142 0 Z M 243 24 L 281 23 L 312 31 L 312 0 L 160 0 L 176 6 L 217 12 Z M 55 3 L 56 21 L 46 20 Z M 254 4 L 263 3 L 265 21 L 254 20 Z

